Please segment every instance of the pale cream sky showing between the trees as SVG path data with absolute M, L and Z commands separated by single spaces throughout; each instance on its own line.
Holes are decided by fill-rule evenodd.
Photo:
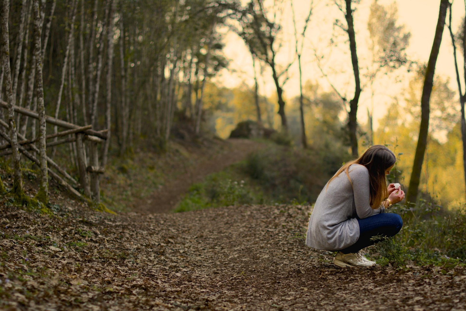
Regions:
M 302 24 L 308 14 L 310 0 L 293 0 L 296 12 L 296 20 L 298 24 L 298 33 L 302 30 Z M 361 0 L 355 12 L 354 21 L 356 29 L 356 45 L 361 71 L 364 65 L 368 64 L 368 42 L 369 32 L 367 30 L 367 20 L 369 17 L 369 7 L 373 0 Z M 246 2 L 246 1 L 243 1 Z M 284 1 L 285 7 L 282 18 L 282 48 L 277 57 L 277 62 L 286 65 L 293 60 L 295 54 L 295 37 L 292 23 L 290 1 Z M 380 4 L 389 5 L 393 0 L 379 0 Z M 433 36 L 439 16 L 440 0 L 395 0 L 398 7 L 398 25 L 404 24 L 405 30 L 411 32 L 411 40 L 407 49 L 408 57 L 411 60 L 419 62 L 427 62 L 432 48 Z M 273 1 L 266 1 L 266 4 L 272 4 Z M 332 0 L 314 0 L 315 9 L 311 17 L 308 31 L 306 33 L 306 41 L 302 53 L 303 67 L 303 83 L 306 80 L 318 81 L 326 90 L 330 90 L 326 79 L 322 77 L 320 70 L 315 65 L 315 56 L 312 48 L 317 50 L 318 55 L 324 55 L 323 65 L 324 71 L 329 75 L 329 79 L 342 94 L 346 94 L 347 98 L 352 98 L 354 95 L 354 76 L 350 62 L 349 44 L 344 41 L 348 39 L 348 35 L 343 33 L 341 29 L 334 31 L 340 34 L 340 43 L 337 47 L 329 48 L 329 39 L 332 33 L 332 24 L 336 18 L 345 21 L 344 15 L 340 12 Z M 462 17 L 465 15 L 464 2 L 456 0 L 453 2 L 453 31 L 456 32 L 461 23 Z M 448 22 L 448 13 L 446 21 Z M 224 70 L 219 78 L 215 81 L 220 82 L 226 87 L 235 87 L 242 82 L 249 85 L 254 85 L 254 74 L 252 69 L 252 59 L 243 41 L 237 35 L 229 33 L 225 38 L 226 47 L 225 55 L 231 60 L 230 69 L 237 72 L 227 72 Z M 331 54 L 329 56 L 329 52 Z M 440 47 L 439 58 L 437 60 L 436 74 L 443 77 L 450 77 L 450 87 L 457 91 L 456 76 L 454 72 L 454 62 L 452 56 L 452 42 L 448 28 L 444 29 L 442 37 L 442 45 Z M 459 52 L 459 51 L 458 51 Z M 460 52 L 459 52 L 460 54 Z M 462 55 L 459 55 L 461 58 Z M 462 66 L 459 59 L 459 66 Z M 461 69 L 461 68 L 460 68 Z M 299 94 L 299 73 L 297 62 L 292 66 L 290 71 L 291 79 L 285 85 L 285 96 L 288 100 Z M 460 73 L 462 74 L 462 73 Z M 274 83 L 270 74 L 265 74 L 267 95 L 276 92 Z M 362 83 L 364 78 L 361 76 Z M 378 119 L 384 116 L 387 105 L 391 103 L 391 97 L 395 94 L 402 95 L 403 87 L 409 81 L 408 76 L 404 76 L 401 83 L 394 83 L 390 79 L 380 80 L 376 82 L 376 95 L 374 97 L 374 121 L 377 127 Z M 464 85 L 463 85 L 464 88 Z M 264 90 L 261 91 L 264 93 Z M 402 96 L 400 96 L 402 99 Z M 420 100 L 420 99 L 419 99 Z M 370 107 L 370 89 L 363 89 L 359 101 L 358 119 L 361 123 L 367 121 L 367 108 Z M 459 105 L 459 104 L 458 104 Z

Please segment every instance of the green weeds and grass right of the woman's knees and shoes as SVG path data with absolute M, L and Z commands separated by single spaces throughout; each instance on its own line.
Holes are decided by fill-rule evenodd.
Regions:
M 409 208 L 395 205 L 404 225 L 394 238 L 374 237 L 377 263 L 404 266 L 456 265 L 466 262 L 465 210 L 443 210 L 435 202 L 419 200 Z

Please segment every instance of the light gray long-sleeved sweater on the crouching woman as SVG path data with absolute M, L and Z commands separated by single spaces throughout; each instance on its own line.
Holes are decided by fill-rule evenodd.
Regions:
M 330 251 L 351 246 L 359 238 L 356 215 L 363 219 L 384 212 L 384 207 L 370 207 L 367 168 L 353 164 L 349 166 L 349 177 L 353 186 L 343 171 L 319 194 L 309 219 L 307 246 Z

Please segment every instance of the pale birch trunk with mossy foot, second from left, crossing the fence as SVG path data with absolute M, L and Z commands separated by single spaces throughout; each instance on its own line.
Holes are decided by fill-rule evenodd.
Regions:
M 44 107 L 44 90 L 42 87 L 42 52 L 41 52 L 41 16 L 39 0 L 34 0 L 34 56 L 35 56 L 35 89 L 37 97 L 37 113 L 39 115 L 39 161 L 41 163 L 41 182 L 36 198 L 42 203 L 48 203 L 48 171 L 46 150 L 46 123 Z

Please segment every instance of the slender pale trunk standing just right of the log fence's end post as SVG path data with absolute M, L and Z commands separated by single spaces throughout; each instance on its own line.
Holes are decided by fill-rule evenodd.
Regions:
M 110 17 L 109 17 L 109 30 L 107 32 L 108 39 L 108 54 L 107 54 L 107 99 L 105 104 L 105 129 L 107 131 L 107 139 L 103 145 L 102 153 L 102 167 L 107 165 L 109 155 L 110 137 L 111 137 L 111 102 L 112 102 L 112 75 L 113 75 L 113 26 L 114 26 L 114 12 L 115 1 L 110 0 Z M 102 175 L 101 175 L 102 176 Z

